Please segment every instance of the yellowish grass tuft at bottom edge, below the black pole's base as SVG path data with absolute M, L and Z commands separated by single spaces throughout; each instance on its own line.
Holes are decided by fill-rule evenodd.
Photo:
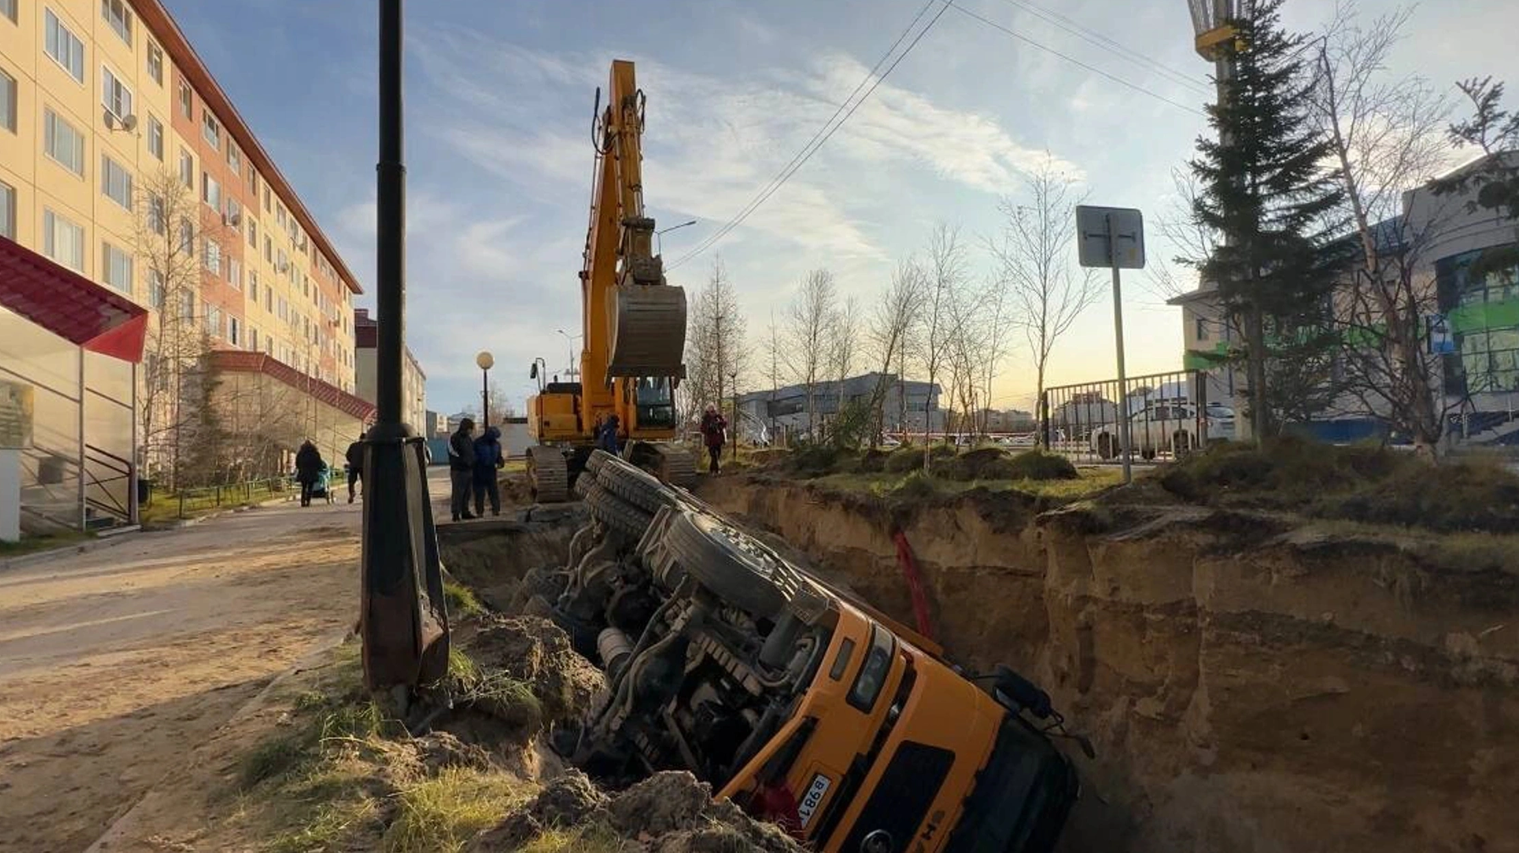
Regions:
M 533 786 L 498 773 L 450 766 L 401 791 L 395 821 L 384 835 L 387 853 L 463 850 L 475 833 L 526 803 Z

